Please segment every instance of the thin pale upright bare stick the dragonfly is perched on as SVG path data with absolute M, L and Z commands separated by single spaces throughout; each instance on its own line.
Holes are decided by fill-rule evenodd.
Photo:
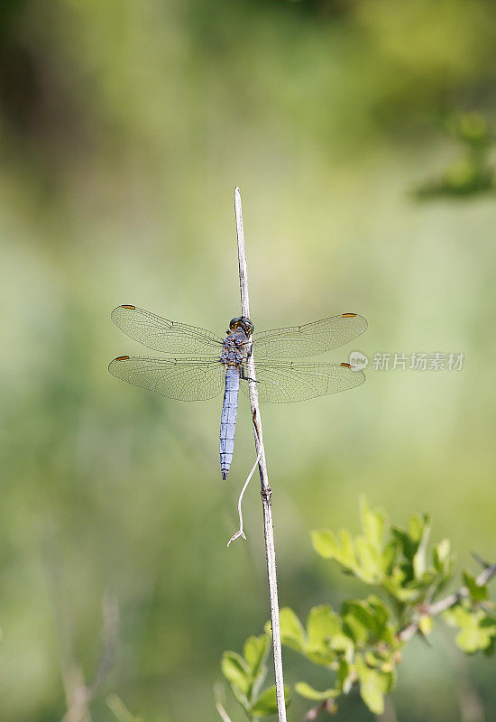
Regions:
M 239 188 L 234 189 L 234 211 L 236 215 L 236 231 L 238 237 L 239 287 L 241 291 L 241 312 L 250 318 L 250 300 L 248 297 L 248 274 L 246 272 L 246 255 L 244 253 L 243 213 Z M 277 597 L 276 551 L 274 547 L 274 530 L 272 525 L 272 490 L 269 486 L 265 449 L 263 448 L 262 421 L 258 405 L 258 391 L 255 383 L 255 362 L 253 354 L 247 361 L 248 378 L 250 381 L 250 405 L 252 407 L 255 449 L 260 456 L 258 468 L 262 486 L 263 531 L 265 535 L 265 556 L 269 577 L 269 596 L 271 598 L 272 645 L 274 650 L 274 671 L 276 678 L 276 698 L 279 722 L 286 722 L 286 703 L 284 699 L 284 680 L 282 677 L 282 653 L 280 651 L 279 603 Z

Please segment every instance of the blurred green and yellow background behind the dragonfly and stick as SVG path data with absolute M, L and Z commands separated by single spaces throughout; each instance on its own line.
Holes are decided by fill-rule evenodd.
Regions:
M 281 604 L 366 594 L 308 535 L 356 530 L 362 492 L 397 523 L 433 514 L 460 566 L 494 560 L 492 151 L 473 152 L 480 116 L 472 145 L 446 118 L 491 124 L 495 40 L 491 0 L 1 5 L 3 720 L 64 717 L 96 674 L 104 602 L 120 622 L 92 719 L 115 719 L 115 693 L 146 722 L 213 722 L 221 653 L 268 618 L 257 483 L 248 541 L 225 548 L 247 405 L 221 484 L 221 398 L 106 372 L 143 353 L 109 319 L 120 303 L 220 334 L 238 314 L 235 184 L 258 329 L 356 311 L 367 333 L 329 360 L 466 355 L 461 373 L 370 370 L 354 392 L 262 410 Z M 426 183 L 446 192 L 421 202 Z M 491 662 L 450 639 L 410 645 L 400 722 L 496 718 Z M 372 715 L 351 698 L 337 718 Z

